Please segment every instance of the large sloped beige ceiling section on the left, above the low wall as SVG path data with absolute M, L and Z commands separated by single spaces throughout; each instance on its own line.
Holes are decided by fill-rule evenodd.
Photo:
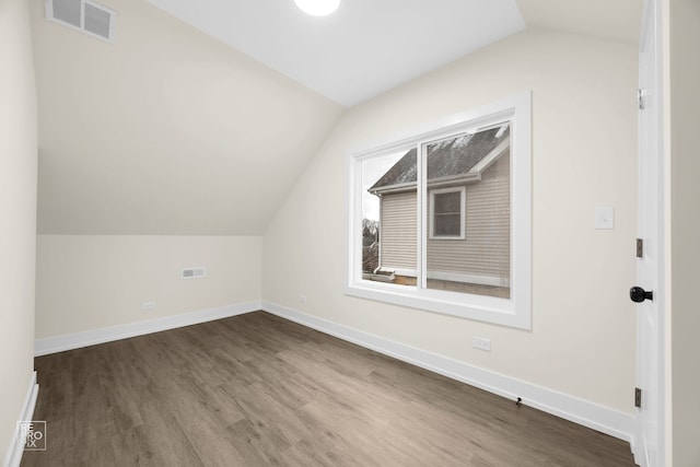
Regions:
M 31 3 L 39 233 L 260 234 L 342 112 L 143 0 L 115 44 Z

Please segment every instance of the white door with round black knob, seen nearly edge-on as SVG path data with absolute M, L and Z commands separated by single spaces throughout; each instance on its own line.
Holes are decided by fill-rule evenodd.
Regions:
M 642 467 L 658 467 L 664 464 L 662 16 L 661 0 L 644 3 L 639 110 L 639 238 L 643 245 L 638 248 L 637 290 L 630 291 L 630 297 L 639 301 L 637 381 L 641 407 L 637 409 L 634 457 Z

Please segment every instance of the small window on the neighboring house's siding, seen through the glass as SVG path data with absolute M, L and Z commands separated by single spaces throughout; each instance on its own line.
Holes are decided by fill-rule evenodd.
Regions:
M 464 238 L 465 187 L 430 191 L 430 237 Z

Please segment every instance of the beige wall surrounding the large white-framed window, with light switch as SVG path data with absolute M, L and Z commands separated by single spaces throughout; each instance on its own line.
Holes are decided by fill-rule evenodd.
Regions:
M 264 300 L 632 413 L 637 49 L 530 31 L 349 110 L 265 235 Z M 346 154 L 533 91 L 533 329 L 343 295 Z M 614 231 L 594 208 L 614 206 Z M 300 294 L 306 295 L 301 303 Z M 490 353 L 471 337 L 490 338 Z

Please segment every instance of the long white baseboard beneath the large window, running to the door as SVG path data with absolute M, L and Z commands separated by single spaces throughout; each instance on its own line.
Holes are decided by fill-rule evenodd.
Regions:
M 574 423 L 632 442 L 634 418 L 607 407 L 483 370 L 446 357 L 427 352 L 383 337 L 339 325 L 298 311 L 262 302 L 262 310 L 330 336 L 375 350 L 489 393 L 516 400 Z

